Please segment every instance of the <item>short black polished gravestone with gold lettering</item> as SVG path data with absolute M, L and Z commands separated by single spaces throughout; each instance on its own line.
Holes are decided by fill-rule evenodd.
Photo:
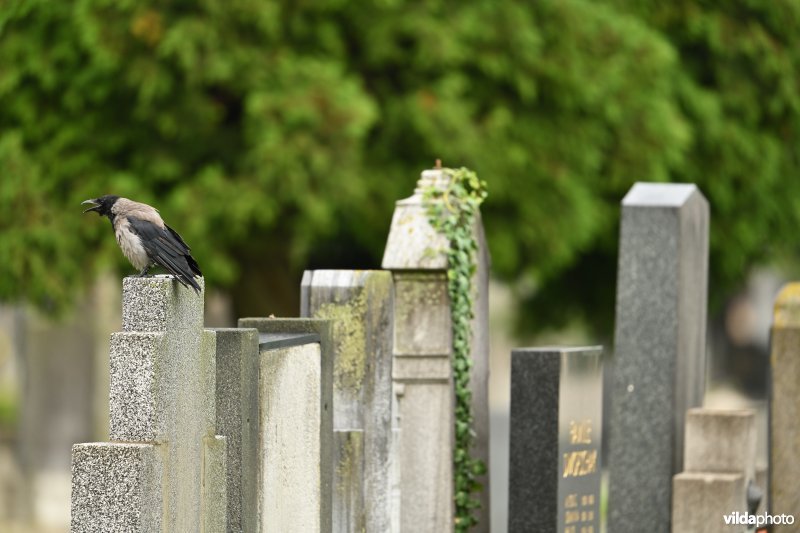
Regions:
M 600 533 L 601 354 L 512 352 L 508 531 Z

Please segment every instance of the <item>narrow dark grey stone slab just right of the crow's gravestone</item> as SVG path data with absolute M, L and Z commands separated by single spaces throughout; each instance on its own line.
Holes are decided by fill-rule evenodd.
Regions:
M 216 430 L 224 435 L 228 531 L 257 531 L 258 331 L 216 333 Z

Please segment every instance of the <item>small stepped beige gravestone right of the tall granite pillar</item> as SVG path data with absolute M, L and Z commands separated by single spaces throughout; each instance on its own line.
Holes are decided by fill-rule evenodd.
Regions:
M 748 512 L 755 483 L 755 412 L 690 409 L 686 414 L 685 470 L 673 479 L 672 531 L 744 532 L 724 516 Z

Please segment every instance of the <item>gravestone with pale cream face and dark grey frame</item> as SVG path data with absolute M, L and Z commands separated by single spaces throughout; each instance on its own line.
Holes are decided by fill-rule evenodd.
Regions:
M 326 320 L 242 318 L 259 332 L 260 531 L 331 531 L 333 354 Z

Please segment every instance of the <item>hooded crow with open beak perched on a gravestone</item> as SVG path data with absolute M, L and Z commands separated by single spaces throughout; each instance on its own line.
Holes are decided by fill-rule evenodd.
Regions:
M 131 264 L 140 270 L 139 277 L 147 275 L 153 265 L 164 267 L 181 285 L 191 287 L 200 294 L 195 276 L 202 276 L 197 261 L 180 235 L 164 224 L 158 210 L 147 204 L 119 196 L 106 195 L 83 204 L 92 207 L 84 213 L 95 211 L 111 221 L 117 243 Z

